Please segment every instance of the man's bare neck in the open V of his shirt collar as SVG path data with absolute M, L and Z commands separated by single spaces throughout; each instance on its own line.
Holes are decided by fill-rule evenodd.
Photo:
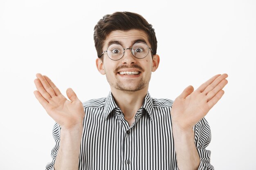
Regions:
M 111 93 L 117 106 L 124 113 L 124 118 L 128 121 L 129 125 L 131 125 L 135 121 L 135 114 L 144 102 L 146 94 L 148 93 L 148 87 L 135 92 L 120 91 L 111 88 Z

